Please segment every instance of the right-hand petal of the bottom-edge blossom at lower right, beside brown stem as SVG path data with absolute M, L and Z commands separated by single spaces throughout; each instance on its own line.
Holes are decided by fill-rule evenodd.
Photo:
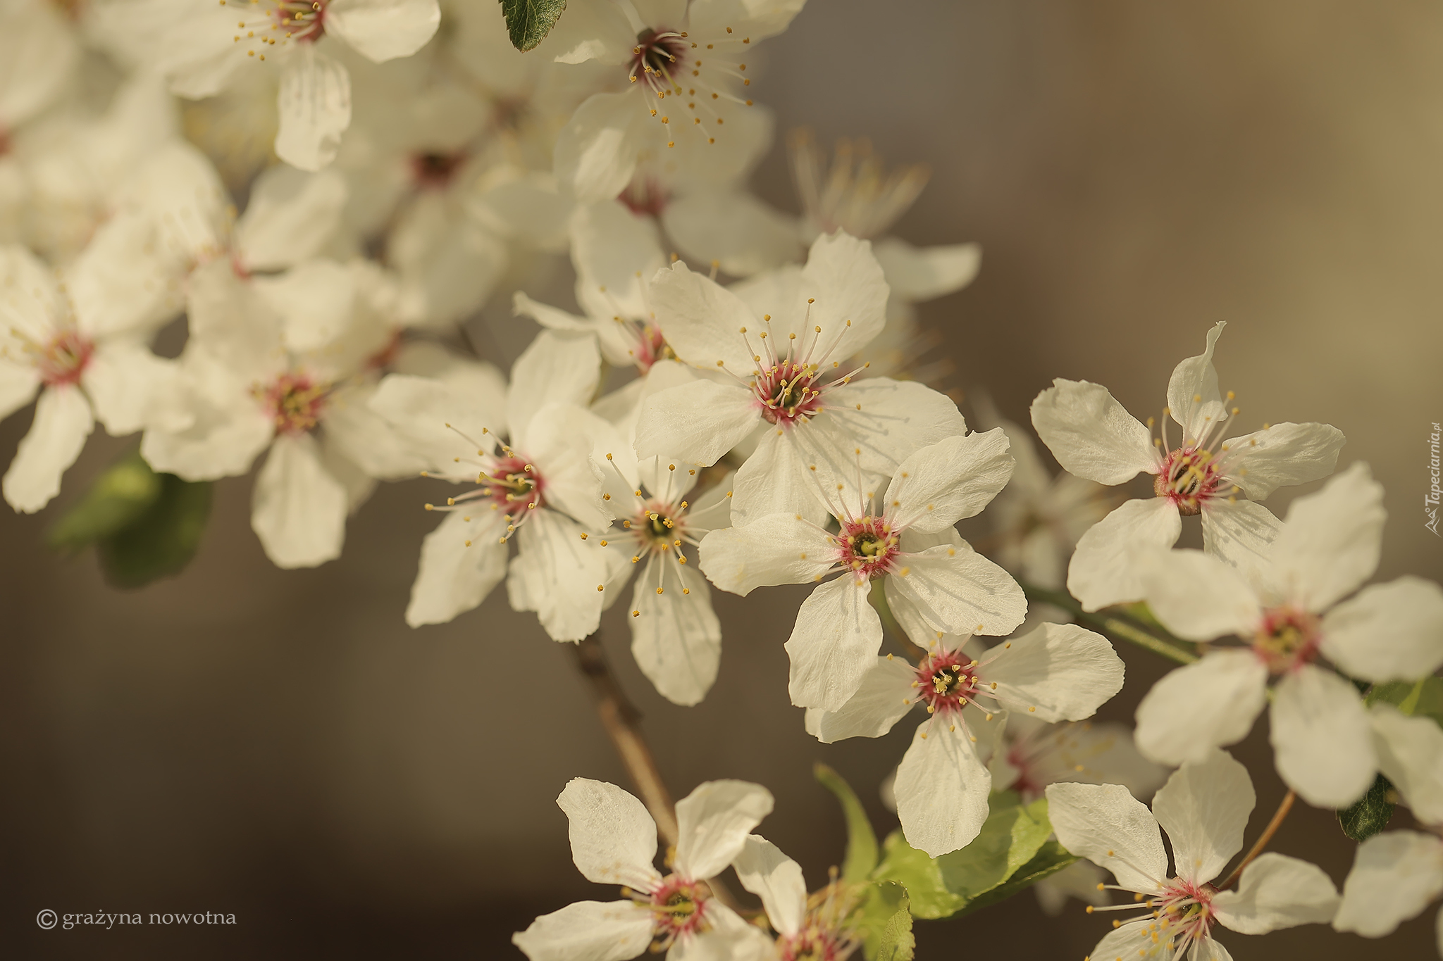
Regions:
M 1266 852 L 1242 869 L 1235 892 L 1224 890 L 1212 899 L 1212 909 L 1225 928 L 1267 934 L 1325 925 L 1338 913 L 1338 889 L 1322 867 Z

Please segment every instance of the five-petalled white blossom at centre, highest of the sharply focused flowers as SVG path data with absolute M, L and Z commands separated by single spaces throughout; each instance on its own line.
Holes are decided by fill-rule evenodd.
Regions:
M 778 511 L 821 522 L 817 484 L 853 483 L 859 464 L 864 478 L 886 477 L 918 448 L 967 431 L 941 393 L 843 369 L 885 321 L 887 287 L 866 241 L 821 236 L 805 267 L 730 290 L 675 264 L 649 290 L 677 359 L 720 377 L 652 395 L 636 454 L 707 465 L 759 432 L 736 474 L 736 524 Z

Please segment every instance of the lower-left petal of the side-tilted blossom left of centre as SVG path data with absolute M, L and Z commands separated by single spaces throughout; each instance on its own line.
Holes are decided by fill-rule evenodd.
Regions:
M 450 511 L 421 542 L 405 622 L 444 624 L 479 605 L 506 576 L 506 547 L 499 543 L 505 514 L 476 506 L 476 514 Z M 470 542 L 470 543 L 468 543 Z

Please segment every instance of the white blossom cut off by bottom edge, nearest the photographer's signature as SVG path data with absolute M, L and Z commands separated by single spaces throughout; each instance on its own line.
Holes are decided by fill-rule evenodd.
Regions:
M 622 885 L 626 900 L 579 900 L 541 915 L 511 939 L 531 961 L 609 958 L 645 951 L 670 961 L 763 958 L 771 945 L 711 896 L 716 877 L 772 813 L 771 792 L 746 781 L 707 781 L 677 803 L 677 847 L 657 870 L 657 823 L 641 801 L 605 781 L 576 778 L 556 803 L 570 821 L 571 859 L 597 885 Z

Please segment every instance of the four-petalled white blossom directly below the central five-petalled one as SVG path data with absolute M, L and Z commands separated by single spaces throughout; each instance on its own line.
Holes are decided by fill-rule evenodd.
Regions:
M 835 533 L 797 513 L 771 514 L 707 535 L 701 569 L 711 584 L 740 595 L 840 575 L 802 602 L 786 641 L 792 703 L 838 710 L 882 647 L 882 621 L 869 602 L 877 581 L 898 618 L 928 631 L 1000 635 L 1022 624 L 1022 588 L 952 527 L 981 511 L 1010 473 L 1000 429 L 949 437 L 898 467 L 882 510 L 873 491 L 838 484 L 825 499 Z M 737 471 L 737 486 L 740 477 Z M 734 520 L 734 504 L 732 510 Z

